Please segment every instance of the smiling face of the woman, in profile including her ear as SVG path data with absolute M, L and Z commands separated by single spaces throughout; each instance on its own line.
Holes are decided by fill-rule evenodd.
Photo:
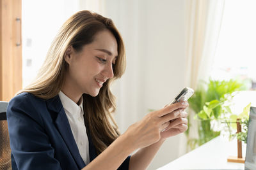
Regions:
M 84 45 L 80 52 L 72 47 L 69 50 L 65 55 L 68 94 L 97 96 L 103 83 L 114 76 L 112 65 L 118 55 L 115 36 L 110 31 L 100 31 L 93 42 Z

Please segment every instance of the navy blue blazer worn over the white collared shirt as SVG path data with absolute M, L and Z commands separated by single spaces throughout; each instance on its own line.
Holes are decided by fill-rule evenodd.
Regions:
M 82 169 L 79 153 L 67 116 L 56 96 L 40 99 L 22 93 L 8 104 L 7 121 L 12 149 L 12 169 Z M 90 134 L 90 162 L 97 154 Z M 118 169 L 129 169 L 130 156 Z

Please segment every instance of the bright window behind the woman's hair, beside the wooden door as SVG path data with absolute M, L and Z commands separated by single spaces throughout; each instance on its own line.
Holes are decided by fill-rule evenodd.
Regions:
M 79 1 L 22 1 L 22 87 L 42 66 L 61 25 L 79 10 Z

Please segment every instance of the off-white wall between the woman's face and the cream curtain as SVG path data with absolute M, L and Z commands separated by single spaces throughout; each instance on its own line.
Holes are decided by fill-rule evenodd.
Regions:
M 105 14 L 115 22 L 126 47 L 127 70 L 113 87 L 116 120 L 124 132 L 148 109 L 168 104 L 185 86 L 185 0 L 111 0 Z M 166 140 L 149 169 L 179 157 L 183 139 L 181 135 Z

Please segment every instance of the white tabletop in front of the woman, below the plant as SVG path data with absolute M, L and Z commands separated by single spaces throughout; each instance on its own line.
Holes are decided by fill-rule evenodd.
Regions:
M 243 145 L 243 157 L 245 152 L 246 145 Z M 230 155 L 237 155 L 237 140 L 228 141 L 228 139 L 219 136 L 158 170 L 244 169 L 244 164 L 227 162 L 227 158 Z

